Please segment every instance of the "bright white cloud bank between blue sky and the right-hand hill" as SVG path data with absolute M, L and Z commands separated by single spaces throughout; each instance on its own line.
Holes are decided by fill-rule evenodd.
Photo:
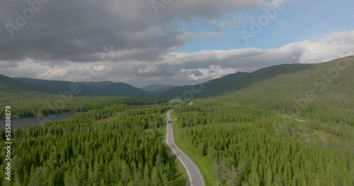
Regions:
M 222 68 L 255 70 L 280 63 L 321 63 L 350 55 L 354 55 L 354 30 L 332 32 L 318 39 L 295 42 L 278 49 L 247 48 L 207 50 L 190 54 L 171 53 L 159 63 L 184 68 L 217 64 Z

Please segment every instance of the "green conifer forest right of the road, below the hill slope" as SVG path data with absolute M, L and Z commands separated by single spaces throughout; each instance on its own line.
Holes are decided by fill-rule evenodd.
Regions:
M 340 142 L 309 142 L 299 130 L 306 123 L 213 99 L 175 112 L 195 154 L 212 162 L 215 185 L 354 185 L 353 133 Z

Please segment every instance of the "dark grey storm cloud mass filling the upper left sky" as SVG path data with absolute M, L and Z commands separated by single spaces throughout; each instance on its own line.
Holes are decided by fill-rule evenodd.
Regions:
M 188 39 L 171 20 L 188 21 L 191 16 L 214 18 L 235 9 L 265 4 L 270 3 L 263 0 L 171 1 L 159 8 L 156 15 L 152 1 L 3 0 L 0 60 L 100 61 L 103 47 L 113 46 L 115 51 L 130 51 L 127 58 L 154 61 L 159 55 L 183 46 Z M 21 26 L 16 24 L 16 19 Z

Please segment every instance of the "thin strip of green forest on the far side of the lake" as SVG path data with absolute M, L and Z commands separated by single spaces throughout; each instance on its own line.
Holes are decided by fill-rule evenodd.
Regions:
M 11 106 L 12 118 L 25 118 L 33 116 L 47 116 L 60 113 L 78 113 L 91 109 L 101 109 L 114 104 L 151 105 L 158 104 L 164 99 L 129 98 L 129 97 L 72 97 L 71 99 L 48 96 L 31 99 L 19 99 L 0 102 L 0 108 Z M 4 113 L 0 112 L 0 118 Z

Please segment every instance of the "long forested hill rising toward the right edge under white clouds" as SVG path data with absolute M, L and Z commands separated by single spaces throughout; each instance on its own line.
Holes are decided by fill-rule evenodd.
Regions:
M 317 77 L 321 78 L 321 73 L 329 73 L 331 68 L 336 69 L 337 63 L 344 66 L 345 63 L 343 59 L 346 59 L 347 63 L 354 63 L 354 56 L 348 56 L 346 58 L 340 58 L 334 61 L 329 61 L 326 63 L 317 64 L 282 64 L 278 66 L 270 66 L 268 68 L 262 68 L 256 70 L 253 73 L 234 73 L 226 75 L 224 77 L 217 78 L 215 80 L 210 80 L 209 82 L 202 83 L 200 85 L 195 85 L 195 89 L 201 91 L 195 93 L 194 97 L 214 97 L 224 95 L 230 92 L 236 92 L 241 89 L 252 89 L 256 90 L 252 92 L 250 97 L 261 96 L 264 98 L 275 97 L 275 95 L 281 94 L 282 97 L 290 96 L 293 94 L 298 94 L 300 92 L 306 92 L 309 87 L 314 86 L 314 80 Z M 336 88 L 331 88 L 331 91 L 338 92 L 338 94 L 350 94 L 353 95 L 353 74 L 354 65 L 345 68 L 345 70 L 338 70 L 340 73 L 340 78 L 336 78 Z M 333 71 L 332 73 L 336 73 Z M 283 79 L 282 77 L 287 77 Z M 331 80 L 329 80 L 331 81 Z M 265 84 L 266 82 L 266 84 Z M 323 80 L 318 80 L 316 82 L 318 87 L 324 87 Z M 285 87 L 287 90 L 285 91 Z M 350 92 L 351 89 L 351 92 Z M 192 91 L 191 86 L 175 87 L 166 92 L 162 92 L 161 95 L 164 96 L 183 96 L 183 92 Z M 285 94 L 282 94 L 285 93 Z M 323 92 L 324 93 L 324 92 Z M 245 96 L 248 94 L 247 91 L 244 92 Z M 187 95 L 189 98 L 190 95 Z

